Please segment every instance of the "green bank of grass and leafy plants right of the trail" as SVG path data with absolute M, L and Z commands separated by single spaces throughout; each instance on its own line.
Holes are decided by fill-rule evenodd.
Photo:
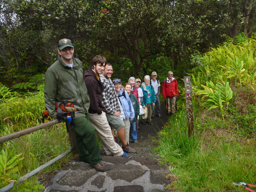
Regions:
M 170 164 L 174 182 L 167 188 L 171 191 L 243 191 L 243 186 L 232 183 L 255 182 L 256 103 L 251 98 L 255 96 L 255 48 L 255 37 L 240 35 L 201 56 L 201 63 L 190 73 L 192 86 L 197 86 L 192 89 L 193 136 L 187 137 L 182 100 L 178 103 L 182 110 L 158 133 L 156 151 L 162 157 L 160 163 Z M 204 89 L 213 85 L 220 86 L 219 98 L 227 104 L 207 110 L 203 103 L 215 100 Z

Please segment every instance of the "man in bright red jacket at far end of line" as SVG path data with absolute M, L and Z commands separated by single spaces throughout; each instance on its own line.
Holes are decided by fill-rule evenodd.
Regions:
M 175 114 L 176 113 L 175 101 L 176 101 L 176 97 L 179 95 L 179 90 L 178 90 L 177 79 L 173 77 L 172 71 L 168 72 L 168 78 L 166 78 L 163 81 L 162 94 L 163 94 L 163 98 L 167 101 L 168 110 L 166 114 L 170 114 L 171 111 L 172 111 L 172 114 Z M 172 110 L 171 110 L 171 105 L 172 105 Z

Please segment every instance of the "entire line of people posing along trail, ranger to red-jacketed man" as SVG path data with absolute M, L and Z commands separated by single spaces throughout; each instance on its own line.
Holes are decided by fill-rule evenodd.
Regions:
M 83 72 L 82 62 L 73 57 L 71 40 L 60 40 L 58 53 L 58 60 L 45 74 L 44 98 L 49 116 L 56 117 L 56 102 L 69 101 L 74 108 L 80 108 L 71 120 L 79 161 L 89 163 L 97 171 L 108 171 L 109 168 L 102 162 L 95 130 L 106 155 L 131 158 L 131 153 L 137 153 L 129 145 L 129 135 L 131 130 L 131 142 L 138 142 L 137 121 L 140 113 L 143 114 L 141 122 L 144 125 L 152 125 L 151 118 L 154 116 L 162 117 L 157 74 L 152 72 L 152 80 L 146 75 L 142 83 L 140 79 L 131 77 L 122 86 L 121 79 L 110 79 L 113 67 L 103 56 L 95 56 L 91 68 Z M 175 113 L 178 96 L 178 84 L 172 75 L 171 71 L 168 72 L 162 88 L 169 106 L 167 114 Z M 122 147 L 117 142 L 121 142 Z

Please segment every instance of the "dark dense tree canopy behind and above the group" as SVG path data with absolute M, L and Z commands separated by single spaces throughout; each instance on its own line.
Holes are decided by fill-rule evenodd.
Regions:
M 255 8 L 253 0 L 0 0 L 0 75 L 45 72 L 61 38 L 73 41 L 85 69 L 102 54 L 117 66 L 131 62 L 133 76 L 162 56 L 185 70 L 193 54 L 253 35 Z

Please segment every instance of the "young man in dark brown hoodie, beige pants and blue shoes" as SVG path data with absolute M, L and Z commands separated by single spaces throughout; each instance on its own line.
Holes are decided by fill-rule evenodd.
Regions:
M 84 82 L 87 86 L 88 95 L 90 97 L 89 115 L 90 122 L 96 129 L 106 155 L 113 155 L 124 158 L 131 158 L 131 154 L 126 153 L 114 141 L 112 132 L 106 118 L 106 108 L 102 104 L 103 84 L 100 76 L 106 65 L 106 59 L 103 56 L 95 56 L 93 65 L 84 73 Z

